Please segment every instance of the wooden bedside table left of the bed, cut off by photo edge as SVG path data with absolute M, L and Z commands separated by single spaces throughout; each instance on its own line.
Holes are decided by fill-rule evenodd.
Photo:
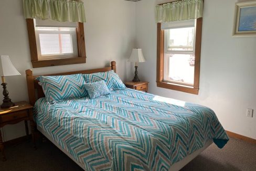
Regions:
M 3 127 L 4 125 L 8 125 L 8 124 L 16 124 L 18 122 L 25 121 L 25 129 L 28 137 L 27 121 L 30 121 L 32 139 L 35 145 L 35 136 L 34 136 L 35 122 L 33 119 L 32 110 L 33 110 L 33 106 L 26 101 L 16 102 L 15 105 L 10 108 L 5 108 L 5 109 L 0 108 L 0 127 Z M 0 151 L 2 152 L 3 161 L 6 161 L 1 131 L 0 131 Z

